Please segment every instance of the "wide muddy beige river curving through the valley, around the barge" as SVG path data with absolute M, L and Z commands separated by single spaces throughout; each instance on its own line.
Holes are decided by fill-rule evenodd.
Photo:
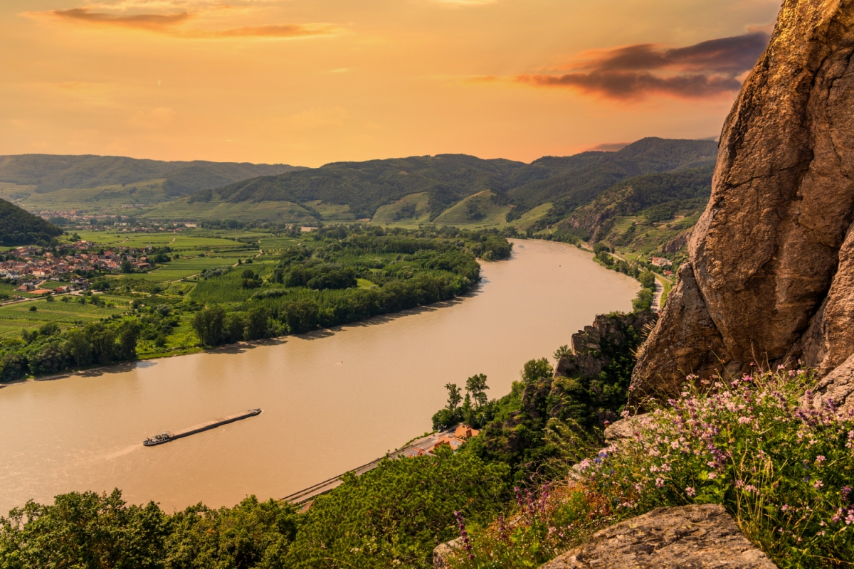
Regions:
M 595 315 L 628 311 L 639 285 L 589 253 L 516 241 L 465 298 L 266 345 L 137 363 L 0 389 L 0 514 L 27 499 L 120 488 L 172 511 L 282 497 L 430 430 L 448 382 L 488 375 L 509 392 Z M 144 438 L 261 407 L 155 447 Z

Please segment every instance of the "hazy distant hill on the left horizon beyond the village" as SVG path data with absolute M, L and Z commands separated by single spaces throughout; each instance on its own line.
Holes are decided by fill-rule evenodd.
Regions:
M 286 164 L 165 162 L 125 156 L 18 154 L 0 156 L 0 182 L 34 185 L 38 194 L 166 178 L 167 195 L 190 195 L 257 176 L 294 170 Z

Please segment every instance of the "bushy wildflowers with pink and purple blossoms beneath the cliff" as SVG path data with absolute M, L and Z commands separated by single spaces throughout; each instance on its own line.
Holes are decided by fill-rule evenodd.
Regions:
M 690 503 L 722 504 L 778 566 L 848 566 L 854 414 L 813 409 L 814 382 L 779 369 L 686 388 L 639 421 L 634 438 L 583 461 L 582 479 L 547 497 L 536 520 L 474 532 L 473 559 L 460 553 L 453 566 L 538 564 L 602 525 Z

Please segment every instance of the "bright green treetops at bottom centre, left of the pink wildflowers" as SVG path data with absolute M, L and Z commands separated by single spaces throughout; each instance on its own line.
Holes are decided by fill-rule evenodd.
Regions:
M 506 465 L 453 455 L 383 461 L 319 496 L 291 545 L 291 567 L 428 567 L 457 534 L 454 510 L 491 519 L 509 497 Z

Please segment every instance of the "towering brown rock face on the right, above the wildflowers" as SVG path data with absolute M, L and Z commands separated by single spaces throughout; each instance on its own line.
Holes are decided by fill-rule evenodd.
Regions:
M 723 126 L 690 260 L 632 400 L 689 373 L 854 352 L 854 0 L 786 0 Z

